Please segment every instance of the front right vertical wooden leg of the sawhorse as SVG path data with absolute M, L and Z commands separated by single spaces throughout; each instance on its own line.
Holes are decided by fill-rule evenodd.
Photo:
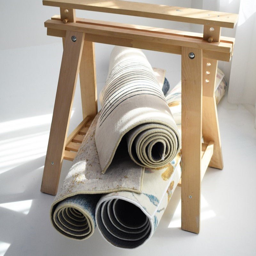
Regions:
M 193 59 L 189 53 L 195 54 Z M 181 53 L 181 228 L 200 230 L 202 151 L 202 50 L 182 47 Z

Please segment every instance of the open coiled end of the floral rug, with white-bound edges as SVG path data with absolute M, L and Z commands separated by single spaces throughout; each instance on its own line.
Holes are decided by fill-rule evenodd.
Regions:
M 154 221 L 140 204 L 116 196 L 99 201 L 95 219 L 103 238 L 124 249 L 141 246 L 153 235 L 155 229 Z

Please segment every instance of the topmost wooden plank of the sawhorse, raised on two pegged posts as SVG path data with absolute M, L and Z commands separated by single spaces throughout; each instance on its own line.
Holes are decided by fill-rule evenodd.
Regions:
M 234 28 L 238 14 L 120 0 L 43 0 L 43 5 Z

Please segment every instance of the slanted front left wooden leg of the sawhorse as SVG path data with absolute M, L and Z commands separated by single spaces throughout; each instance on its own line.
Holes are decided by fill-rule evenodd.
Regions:
M 67 31 L 41 186 L 42 192 L 51 195 L 58 189 L 83 44 L 84 33 Z

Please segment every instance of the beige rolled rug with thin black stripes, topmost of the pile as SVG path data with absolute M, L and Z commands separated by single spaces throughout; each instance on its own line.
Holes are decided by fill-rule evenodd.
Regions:
M 124 140 L 128 150 L 118 152 L 129 154 L 142 167 L 164 166 L 179 152 L 177 126 L 153 69 L 139 49 L 114 47 L 100 103 L 95 142 L 102 173 Z

